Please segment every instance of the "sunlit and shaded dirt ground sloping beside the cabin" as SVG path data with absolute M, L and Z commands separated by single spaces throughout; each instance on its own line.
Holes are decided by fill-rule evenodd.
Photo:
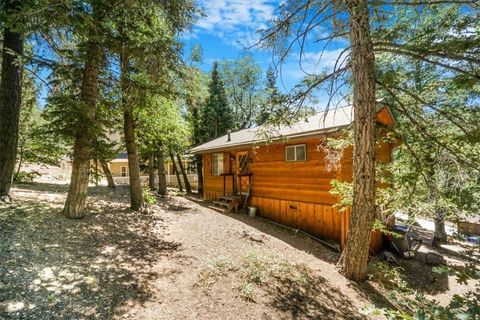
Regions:
M 389 303 L 375 283 L 343 278 L 339 253 L 265 219 L 182 197 L 139 214 L 126 188 L 94 187 L 87 217 L 68 220 L 66 191 L 17 185 L 0 207 L 0 318 L 362 319 Z M 440 300 L 465 290 L 401 263 Z

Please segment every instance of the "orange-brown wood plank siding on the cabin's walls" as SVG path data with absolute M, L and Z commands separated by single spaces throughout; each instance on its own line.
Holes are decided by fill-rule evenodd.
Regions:
M 338 198 L 330 194 L 332 179 L 352 180 L 352 148 L 344 151 L 340 166 L 327 170 L 325 154 L 319 148 L 324 137 L 297 139 L 294 143 L 275 143 L 250 149 L 253 173 L 253 205 L 267 219 L 304 230 L 320 238 L 338 241 L 343 248 L 350 224 L 350 209 L 339 212 L 334 204 Z M 285 161 L 285 146 L 306 144 L 307 160 Z M 211 175 L 211 155 L 204 155 L 204 198 L 215 200 L 223 195 L 223 177 Z M 228 162 L 235 151 L 225 152 Z M 391 146 L 377 148 L 377 160 L 391 161 Z M 231 161 L 232 172 L 235 161 Z M 228 168 L 228 163 L 224 164 Z M 226 177 L 227 194 L 232 193 L 231 176 Z M 379 232 L 372 233 L 372 250 L 382 245 Z

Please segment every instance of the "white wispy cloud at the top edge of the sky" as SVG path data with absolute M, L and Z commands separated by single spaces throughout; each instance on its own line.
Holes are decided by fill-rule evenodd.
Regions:
M 276 5 L 265 0 L 199 0 L 206 17 L 196 28 L 215 34 L 232 45 L 252 45 L 256 31 L 273 18 Z

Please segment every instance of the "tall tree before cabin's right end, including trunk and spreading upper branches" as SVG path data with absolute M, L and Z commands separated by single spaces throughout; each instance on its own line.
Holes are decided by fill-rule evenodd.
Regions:
M 411 8 L 413 16 L 418 18 L 422 11 L 442 6 L 459 8 L 466 19 L 457 20 L 459 23 L 454 28 L 442 21 L 441 33 L 437 31 L 438 21 L 430 19 L 433 23 L 424 29 L 425 33 L 409 39 L 402 36 L 407 34 L 405 30 L 416 25 L 392 27 L 393 20 L 402 16 L 395 13 L 403 13 L 406 8 Z M 263 31 L 260 43 L 273 48 L 279 63 L 285 62 L 289 54 L 300 52 L 300 67 L 310 44 L 320 46 L 322 56 L 326 50 L 333 49 L 337 40 L 349 38 L 350 46 L 340 52 L 333 70 L 306 74 L 304 81 L 293 90 L 291 99 L 295 104 L 290 115 L 298 115 L 315 90 L 325 88 L 331 96 L 341 95 L 343 100 L 342 88 L 351 86 L 348 95 L 353 94 L 354 107 L 353 205 L 347 244 L 339 263 L 350 279 L 362 280 L 366 276 L 375 213 L 375 92 L 379 85 L 375 74 L 376 54 L 389 52 L 409 57 L 436 65 L 462 82 L 478 82 L 478 41 L 455 36 L 466 29 L 475 30 L 475 26 L 470 26 L 478 21 L 478 14 L 472 14 L 475 6 L 473 1 L 392 0 L 387 5 L 366 0 L 292 0 L 282 2 L 279 17 Z M 476 20 L 472 20 L 474 16 Z M 314 30 L 319 28 L 328 30 L 328 34 L 317 34 Z

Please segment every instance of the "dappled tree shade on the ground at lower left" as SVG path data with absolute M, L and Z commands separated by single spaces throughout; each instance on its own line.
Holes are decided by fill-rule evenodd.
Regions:
M 112 191 L 89 192 L 93 202 L 112 200 Z M 64 218 L 59 203 L 28 197 L 0 207 L 0 318 L 110 319 L 152 297 L 151 282 L 162 275 L 150 267 L 180 244 L 162 240 L 158 215 L 131 212 L 117 193 L 115 208 L 82 220 Z

